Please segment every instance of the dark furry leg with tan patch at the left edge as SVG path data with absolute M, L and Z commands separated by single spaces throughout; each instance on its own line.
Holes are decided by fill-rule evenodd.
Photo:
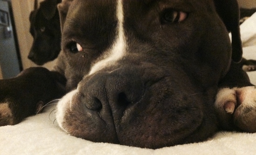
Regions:
M 47 102 L 65 93 L 66 79 L 42 67 L 29 68 L 17 77 L 0 80 L 0 126 L 20 123 Z

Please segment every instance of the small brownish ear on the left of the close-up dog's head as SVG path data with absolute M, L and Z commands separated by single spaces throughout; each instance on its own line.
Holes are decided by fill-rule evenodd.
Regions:
M 73 0 L 62 0 L 62 2 L 57 6 L 59 10 L 60 20 L 61 20 L 61 32 L 67 17 L 68 8 L 71 5 L 72 1 Z

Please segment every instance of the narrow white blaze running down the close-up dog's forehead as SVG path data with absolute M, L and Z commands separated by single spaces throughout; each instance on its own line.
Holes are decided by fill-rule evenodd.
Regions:
M 123 29 L 124 14 L 122 0 L 118 0 L 116 7 L 116 17 L 118 19 L 117 36 L 112 47 L 104 53 L 103 58 L 93 65 L 89 75 L 101 70 L 106 66 L 115 65 L 117 60 L 123 58 L 126 53 L 126 39 Z

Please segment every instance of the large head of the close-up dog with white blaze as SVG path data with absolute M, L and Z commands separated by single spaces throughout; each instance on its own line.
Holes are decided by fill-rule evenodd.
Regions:
M 231 61 L 228 31 L 240 47 L 233 60 L 242 53 L 238 6 L 227 3 L 64 0 L 67 87 L 77 88 L 58 104 L 60 127 L 94 142 L 146 148 L 211 136 L 217 85 Z

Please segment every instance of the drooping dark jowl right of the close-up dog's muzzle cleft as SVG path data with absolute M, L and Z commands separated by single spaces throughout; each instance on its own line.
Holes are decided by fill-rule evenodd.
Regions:
M 152 87 L 140 103 L 125 111 L 117 130 L 121 144 L 154 149 L 176 145 L 200 127 L 199 104 L 167 86 L 159 87 Z

